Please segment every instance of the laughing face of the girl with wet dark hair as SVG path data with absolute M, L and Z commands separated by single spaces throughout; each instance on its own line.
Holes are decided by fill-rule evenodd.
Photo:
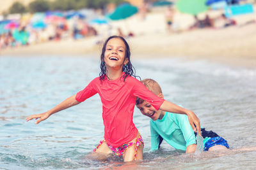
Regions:
M 106 67 L 121 69 L 129 60 L 125 57 L 125 43 L 120 38 L 109 39 L 104 53 L 104 62 Z

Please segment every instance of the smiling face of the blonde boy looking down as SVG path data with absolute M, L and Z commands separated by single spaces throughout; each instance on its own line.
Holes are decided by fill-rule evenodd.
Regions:
M 159 119 L 161 115 L 161 110 L 156 110 L 150 103 L 147 101 L 143 101 L 141 104 L 136 104 L 137 108 L 140 110 L 140 112 L 147 116 L 152 118 L 152 120 Z

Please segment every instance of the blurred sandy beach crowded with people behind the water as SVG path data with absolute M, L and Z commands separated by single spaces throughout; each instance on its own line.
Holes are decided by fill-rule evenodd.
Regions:
M 255 1 L 237 1 L 237 4 L 245 7 L 234 15 L 228 15 L 228 9 L 225 9 L 227 3 L 215 7 L 212 3 L 201 11 L 184 13 L 176 8 L 176 1 L 168 1 L 170 4 L 157 4 L 157 1 L 79 1 L 84 6 L 79 10 L 67 10 L 79 8 L 68 6 L 68 1 L 49 1 L 52 4 L 48 1 L 17 1 L 16 8 L 22 10 L 24 6 L 20 14 L 13 11 L 15 2 L 1 1 L 1 11 L 5 12 L 0 17 L 2 56 L 58 54 L 71 57 L 99 53 L 100 41 L 109 35 L 122 34 L 129 37 L 132 55 L 136 57 L 168 55 L 187 59 L 204 58 L 234 66 L 256 66 Z M 58 2 L 67 4 L 61 6 Z M 201 4 L 205 2 L 201 1 Z M 131 17 L 111 20 L 108 16 L 116 6 L 125 3 L 136 6 L 138 11 L 132 13 Z M 234 3 L 236 6 L 236 1 Z M 253 11 L 250 7 L 248 10 L 248 4 L 252 5 Z M 37 9 L 36 5 L 41 7 Z M 196 5 L 200 6 L 194 3 Z M 51 6 L 54 6 L 54 11 L 50 11 Z M 168 8 L 172 8 L 169 13 Z M 7 15 L 8 12 L 12 14 Z M 222 14 L 228 17 L 223 18 Z M 172 20 L 169 29 L 166 24 L 168 20 Z

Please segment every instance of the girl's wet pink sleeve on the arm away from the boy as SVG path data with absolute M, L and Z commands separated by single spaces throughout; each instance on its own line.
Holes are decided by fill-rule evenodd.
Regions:
M 95 83 L 95 80 L 92 80 L 83 90 L 77 92 L 76 101 L 83 102 L 86 99 L 97 94 L 97 90 L 95 90 L 94 83 Z

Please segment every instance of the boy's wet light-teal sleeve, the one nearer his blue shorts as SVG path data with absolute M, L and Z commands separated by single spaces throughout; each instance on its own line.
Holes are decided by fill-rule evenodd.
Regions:
M 180 130 L 182 131 L 182 134 L 186 141 L 186 147 L 192 144 L 196 144 L 195 132 L 193 131 L 191 125 L 189 124 L 188 116 L 175 114 L 175 118 L 175 122 L 179 124 Z

